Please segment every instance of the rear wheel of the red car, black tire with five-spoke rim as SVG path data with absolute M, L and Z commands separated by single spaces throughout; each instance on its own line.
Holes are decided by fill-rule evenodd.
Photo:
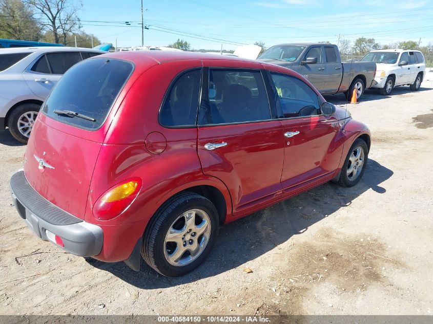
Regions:
M 143 236 L 141 255 L 165 276 L 180 276 L 198 267 L 218 235 L 214 204 L 194 192 L 169 199 L 155 213 Z

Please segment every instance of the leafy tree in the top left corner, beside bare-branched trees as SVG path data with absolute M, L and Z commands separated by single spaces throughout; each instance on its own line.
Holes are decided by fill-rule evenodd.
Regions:
M 0 0 L 1 38 L 37 41 L 40 34 L 40 24 L 29 5 L 21 0 Z

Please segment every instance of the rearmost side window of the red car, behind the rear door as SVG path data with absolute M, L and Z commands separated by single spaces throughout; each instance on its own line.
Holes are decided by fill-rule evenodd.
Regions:
M 159 112 L 163 126 L 195 125 L 200 94 L 201 70 L 179 76 L 166 95 Z

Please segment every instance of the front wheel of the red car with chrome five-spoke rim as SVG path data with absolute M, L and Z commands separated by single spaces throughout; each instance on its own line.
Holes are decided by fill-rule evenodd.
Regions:
M 368 160 L 368 146 L 364 140 L 358 138 L 350 146 L 339 176 L 333 182 L 342 187 L 353 187 L 362 178 Z

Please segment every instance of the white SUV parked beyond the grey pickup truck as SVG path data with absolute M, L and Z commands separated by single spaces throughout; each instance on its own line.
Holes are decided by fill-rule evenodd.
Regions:
M 372 88 L 379 89 L 386 96 L 399 85 L 409 85 L 410 90 L 418 91 L 425 76 L 425 59 L 420 51 L 371 51 L 361 61 L 376 62 L 377 71 Z

